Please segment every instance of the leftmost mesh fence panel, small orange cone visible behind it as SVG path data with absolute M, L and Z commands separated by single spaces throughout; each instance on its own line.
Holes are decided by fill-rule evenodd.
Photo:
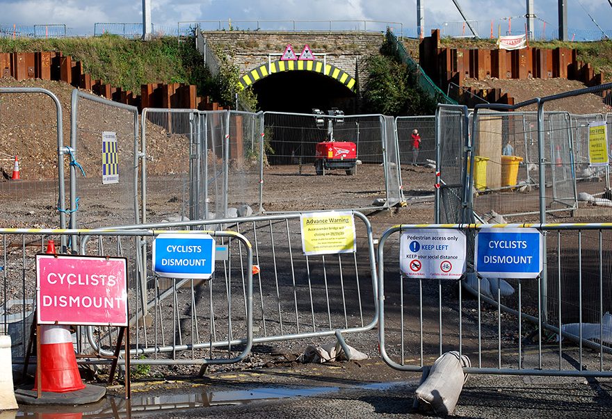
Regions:
M 26 227 L 31 221 L 23 208 L 31 206 L 49 208 L 38 223 L 66 227 L 58 224 L 56 209 L 59 186 L 56 104 L 42 92 L 25 90 L 0 88 L 0 195 L 5 203 L 0 225 Z M 70 127 L 67 122 L 63 123 L 66 133 Z M 18 171 L 15 171 L 16 159 Z M 17 177 L 20 180 L 11 180 Z M 62 208 L 66 206 L 70 203 L 64 202 Z

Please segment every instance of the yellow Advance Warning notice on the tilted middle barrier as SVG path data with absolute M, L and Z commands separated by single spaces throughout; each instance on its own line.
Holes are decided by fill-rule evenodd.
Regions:
M 350 211 L 303 213 L 300 224 L 304 254 L 355 252 L 355 221 Z

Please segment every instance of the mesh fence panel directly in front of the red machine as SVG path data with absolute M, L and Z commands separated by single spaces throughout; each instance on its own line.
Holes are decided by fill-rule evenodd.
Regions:
M 264 113 L 264 209 L 369 208 L 384 202 L 385 182 L 398 176 L 396 161 L 385 165 L 387 141 L 395 150 L 393 126 L 382 115 Z M 269 192 L 279 187 L 287 195 L 275 198 Z M 390 201 L 399 195 L 388 193 Z

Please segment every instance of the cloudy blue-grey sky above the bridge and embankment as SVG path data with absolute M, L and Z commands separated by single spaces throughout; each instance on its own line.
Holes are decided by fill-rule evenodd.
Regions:
M 604 30 L 612 30 L 612 6 L 607 0 L 565 0 L 568 4 L 568 28 L 572 31 L 599 32 L 591 16 Z M 547 22 L 547 33 L 558 26 L 558 0 L 534 0 L 536 15 Z M 452 0 L 423 0 L 426 33 L 433 26 L 461 20 Z M 526 13 L 525 0 L 458 0 L 467 19 L 478 21 L 481 36 L 494 33 L 501 26 L 508 30 L 507 17 L 513 17 L 513 32 L 524 27 L 519 16 Z M 401 22 L 408 31 L 415 31 L 416 0 L 151 0 L 152 22 L 159 30 L 176 31 L 179 21 L 232 19 L 239 28 L 255 28 L 245 20 L 376 20 Z M 506 19 L 504 19 L 506 18 Z M 142 22 L 142 1 L 126 0 L 0 0 L 2 26 L 34 24 L 66 24 L 72 33 L 93 32 L 96 22 Z M 260 25 L 264 26 L 264 25 Z M 451 24 L 447 26 L 451 31 Z M 456 25 L 455 25 L 456 26 Z M 536 24 L 536 33 L 543 24 Z M 578 38 L 577 38 L 578 39 Z

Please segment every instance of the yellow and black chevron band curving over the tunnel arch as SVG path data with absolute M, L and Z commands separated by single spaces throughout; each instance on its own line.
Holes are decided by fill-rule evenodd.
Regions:
M 323 65 L 323 61 L 318 60 L 277 60 L 270 63 L 269 67 L 267 64 L 260 65 L 259 67 L 250 70 L 247 74 L 240 78 L 240 88 L 241 90 L 244 90 L 259 79 L 263 79 L 264 77 L 267 77 L 270 74 L 289 72 L 292 70 L 324 74 L 325 76 L 332 77 L 332 79 L 336 79 L 340 83 L 344 84 L 347 88 L 355 92 L 355 79 L 353 79 L 353 77 L 351 77 L 347 72 L 345 72 L 343 69 L 339 69 L 335 65 Z

